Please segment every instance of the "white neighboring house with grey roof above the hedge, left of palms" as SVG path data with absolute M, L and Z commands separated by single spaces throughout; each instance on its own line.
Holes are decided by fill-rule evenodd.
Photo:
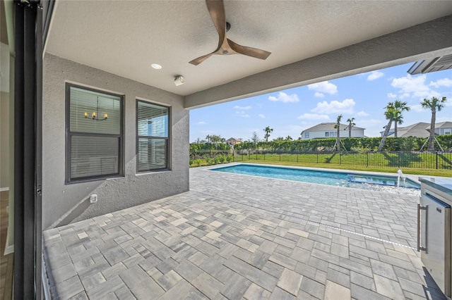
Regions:
M 328 137 L 337 137 L 338 130 L 334 127 L 336 123 L 320 123 L 307 130 L 302 131 L 302 139 L 326 139 Z M 352 127 L 352 137 L 364 137 L 362 127 Z M 348 125 L 340 124 L 340 137 L 348 137 Z

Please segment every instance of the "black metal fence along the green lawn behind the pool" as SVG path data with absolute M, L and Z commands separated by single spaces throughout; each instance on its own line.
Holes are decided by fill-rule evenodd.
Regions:
M 309 164 L 359 165 L 368 168 L 452 170 L 452 153 L 449 152 L 303 152 L 253 149 L 190 151 L 190 165 L 232 161 L 286 161 Z

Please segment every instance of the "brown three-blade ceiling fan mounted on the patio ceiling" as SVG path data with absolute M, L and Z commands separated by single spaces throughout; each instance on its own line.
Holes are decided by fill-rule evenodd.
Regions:
M 244 54 L 246 56 L 251 56 L 260 59 L 266 59 L 271 53 L 261 49 L 251 48 L 248 46 L 242 46 L 235 42 L 232 42 L 226 37 L 226 32 L 230 28 L 230 24 L 226 23 L 225 6 L 222 0 L 206 0 L 207 9 L 210 13 L 210 18 L 212 18 L 213 25 L 218 32 L 218 47 L 210 54 L 200 56 L 190 61 L 192 65 L 198 65 L 213 54 L 218 55 L 230 55 L 230 54 Z

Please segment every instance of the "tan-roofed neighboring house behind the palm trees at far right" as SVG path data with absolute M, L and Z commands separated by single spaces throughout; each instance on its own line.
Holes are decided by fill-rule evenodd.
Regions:
M 397 127 L 397 137 L 429 137 L 430 123 L 419 122 L 405 127 Z M 451 135 L 452 122 L 435 124 L 435 135 Z M 383 137 L 384 130 L 380 132 Z M 388 137 L 394 137 L 394 128 L 389 131 Z

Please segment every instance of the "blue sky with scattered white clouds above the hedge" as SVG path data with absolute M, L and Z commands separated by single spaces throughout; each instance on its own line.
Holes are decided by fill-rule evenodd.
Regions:
M 343 77 L 314 85 L 295 87 L 261 96 L 230 101 L 190 111 L 190 142 L 220 135 L 229 139 L 251 139 L 255 131 L 263 139 L 263 128 L 277 137 L 298 139 L 300 133 L 318 123 L 335 122 L 343 114 L 355 118 L 367 137 L 380 136 L 387 121 L 384 106 L 396 99 L 408 102 L 411 110 L 403 113 L 403 125 L 430 123 L 432 114 L 420 107 L 420 101 L 446 96 L 446 107 L 436 113 L 436 122 L 452 121 L 452 70 L 411 76 L 412 63 Z

